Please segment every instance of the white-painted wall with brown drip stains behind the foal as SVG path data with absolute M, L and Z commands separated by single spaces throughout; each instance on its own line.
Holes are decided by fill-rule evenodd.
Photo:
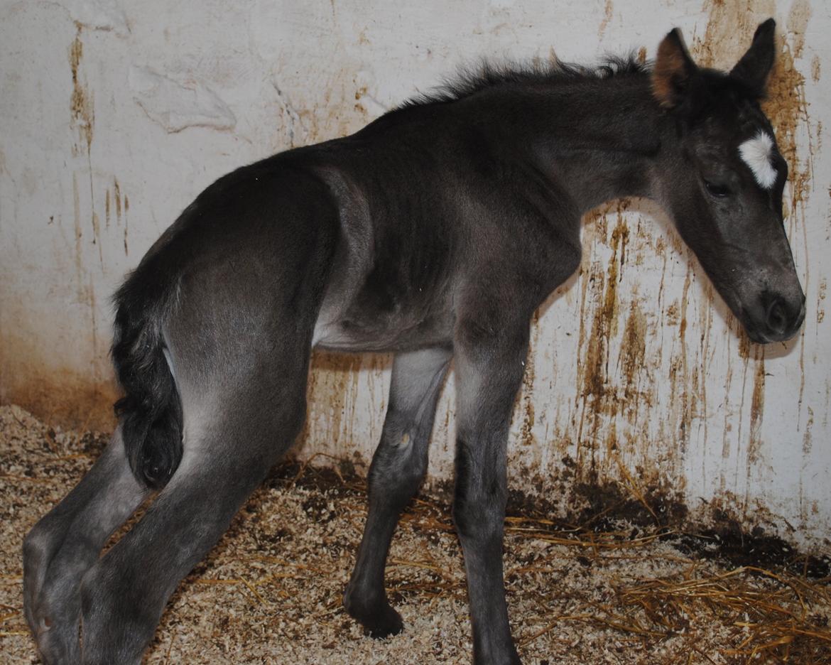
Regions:
M 666 217 L 641 201 L 588 216 L 580 273 L 534 322 L 514 417 L 514 486 L 563 469 L 627 492 L 672 488 L 807 544 L 831 526 L 831 8 L 825 2 L 57 0 L 0 7 L 0 397 L 107 424 L 108 298 L 219 175 L 356 131 L 488 56 L 652 57 L 673 26 L 730 67 L 779 22 L 766 110 L 793 174 L 789 237 L 808 318 L 750 344 Z M 389 357 L 318 354 L 302 454 L 367 460 Z M 450 382 L 452 386 L 452 381 Z M 431 470 L 449 477 L 453 390 Z

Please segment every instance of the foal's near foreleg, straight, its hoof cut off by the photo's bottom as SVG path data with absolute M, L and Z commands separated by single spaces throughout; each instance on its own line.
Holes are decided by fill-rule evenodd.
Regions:
M 505 601 L 502 541 L 508 431 L 528 352 L 528 323 L 509 330 L 462 323 L 458 337 L 453 518 L 465 554 L 474 662 L 519 663 Z

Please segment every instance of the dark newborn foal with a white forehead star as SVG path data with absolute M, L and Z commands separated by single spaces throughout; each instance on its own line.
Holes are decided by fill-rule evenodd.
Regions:
M 347 611 L 372 635 L 402 628 L 386 554 L 452 359 L 474 660 L 519 663 L 502 571 L 509 420 L 529 320 L 580 263 L 581 215 L 655 199 L 752 339 L 804 318 L 786 166 L 758 104 L 773 61 L 770 20 L 730 73 L 699 69 L 677 31 L 652 68 L 486 69 L 211 185 L 117 293 L 119 426 L 24 544 L 42 658 L 140 662 L 179 580 L 300 431 L 320 346 L 396 352 Z

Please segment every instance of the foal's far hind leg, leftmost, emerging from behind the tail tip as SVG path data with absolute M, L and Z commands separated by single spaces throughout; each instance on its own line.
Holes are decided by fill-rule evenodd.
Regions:
M 23 541 L 23 608 L 45 663 L 77 663 L 81 579 L 148 495 L 127 463 L 120 426 L 75 489 Z

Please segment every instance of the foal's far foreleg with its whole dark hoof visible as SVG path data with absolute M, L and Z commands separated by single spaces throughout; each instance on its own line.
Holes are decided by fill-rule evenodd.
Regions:
M 427 470 L 427 449 L 449 348 L 399 353 L 392 366 L 389 406 L 381 443 L 369 472 L 369 513 L 344 607 L 367 634 L 381 638 L 401 632 L 401 615 L 384 590 L 384 567 L 401 510 Z

